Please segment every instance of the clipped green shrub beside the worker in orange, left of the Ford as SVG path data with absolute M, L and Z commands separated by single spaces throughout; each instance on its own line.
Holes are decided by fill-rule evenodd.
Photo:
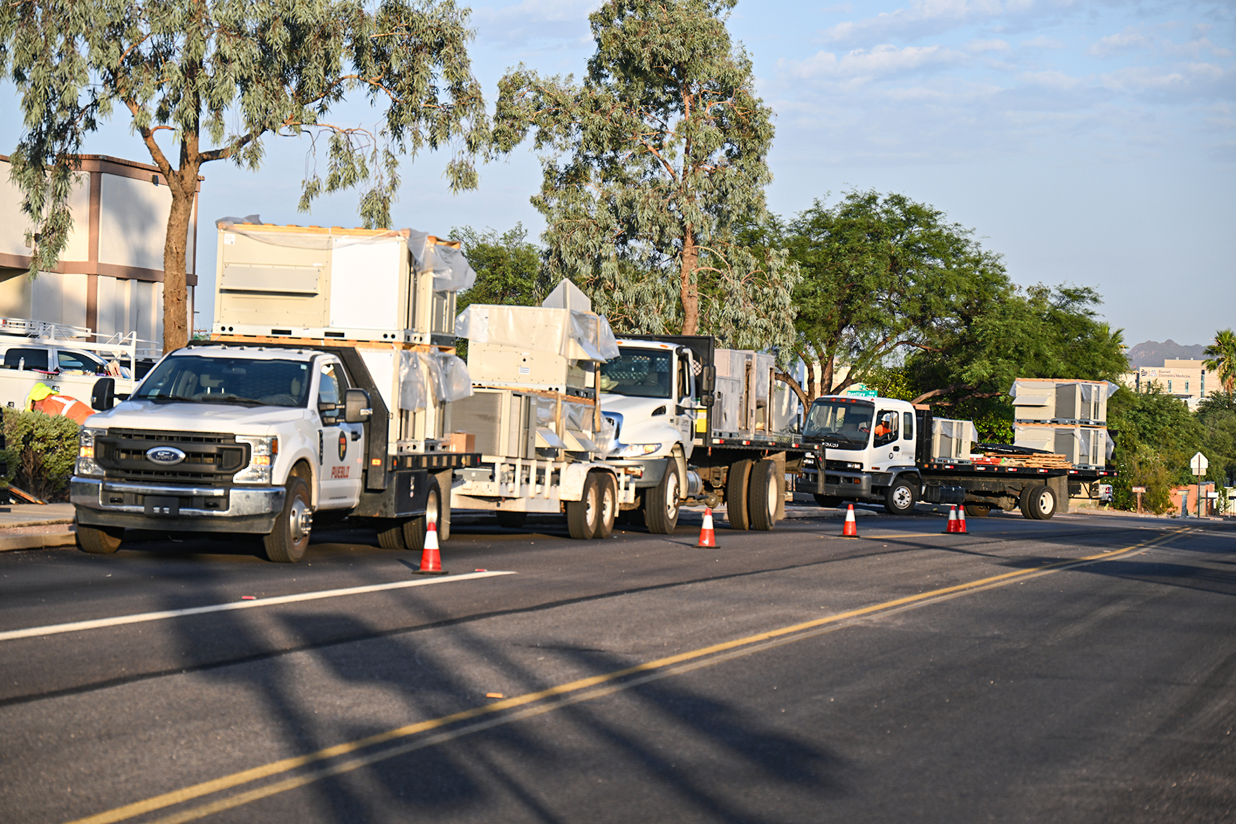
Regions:
M 64 415 L 4 410 L 5 483 L 40 498 L 63 492 L 73 474 L 80 426 Z

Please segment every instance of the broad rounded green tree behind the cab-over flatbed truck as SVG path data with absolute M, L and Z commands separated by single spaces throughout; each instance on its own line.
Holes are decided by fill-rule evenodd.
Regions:
M 1011 292 L 1000 257 L 970 230 L 900 194 L 816 200 L 744 237 L 756 248 L 785 246 L 798 264 L 796 352 L 822 364 L 821 393 L 875 379 L 890 357 L 960 334 Z

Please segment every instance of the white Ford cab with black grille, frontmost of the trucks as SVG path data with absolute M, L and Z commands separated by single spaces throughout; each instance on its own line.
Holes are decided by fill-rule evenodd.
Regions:
M 271 560 L 295 561 L 314 511 L 361 497 L 368 410 L 331 353 L 173 352 L 129 400 L 87 419 L 70 486 L 83 546 L 106 551 L 125 528 L 157 524 L 261 534 Z

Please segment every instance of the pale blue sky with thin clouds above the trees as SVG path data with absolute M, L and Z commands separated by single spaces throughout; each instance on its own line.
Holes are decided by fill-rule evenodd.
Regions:
M 472 56 L 487 95 L 524 62 L 580 74 L 596 2 L 477 5 Z M 1172 0 L 740 2 L 729 21 L 777 112 L 769 205 L 781 215 L 848 189 L 899 191 L 973 227 L 1021 284 L 1098 289 L 1130 343 L 1204 343 L 1236 325 L 1236 6 Z M 17 140 L 12 86 L 0 152 Z M 346 116 L 345 116 L 346 115 Z M 362 105 L 334 121 L 375 124 Z M 90 145 L 133 159 L 120 120 Z M 203 274 L 213 220 L 355 225 L 356 198 L 295 210 L 307 146 L 272 141 L 258 173 L 213 163 L 201 194 Z M 399 226 L 446 233 L 523 221 L 539 185 L 530 152 L 451 195 L 440 156 L 405 162 Z M 209 285 L 198 326 L 208 326 Z

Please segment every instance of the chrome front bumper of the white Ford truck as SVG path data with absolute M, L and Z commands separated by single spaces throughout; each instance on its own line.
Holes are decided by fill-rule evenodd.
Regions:
M 266 535 L 283 511 L 283 487 L 190 487 L 73 476 L 77 521 L 185 532 Z

